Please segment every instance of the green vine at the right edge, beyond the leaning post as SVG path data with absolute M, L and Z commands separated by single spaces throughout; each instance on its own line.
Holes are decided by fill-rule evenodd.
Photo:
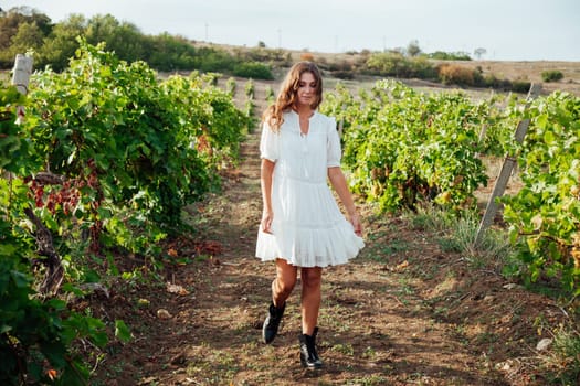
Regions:
M 521 119 L 519 109 L 512 109 Z M 580 296 L 580 98 L 556 92 L 534 100 L 528 132 L 518 147 L 521 186 L 500 199 L 510 239 L 528 282 L 553 281 Z M 557 156 L 555 156 L 557 154 Z

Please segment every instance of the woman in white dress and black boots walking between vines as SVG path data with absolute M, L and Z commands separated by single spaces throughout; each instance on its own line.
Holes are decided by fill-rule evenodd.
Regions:
M 262 329 L 264 343 L 277 334 L 296 285 L 302 280 L 300 363 L 320 368 L 316 352 L 323 268 L 345 264 L 363 247 L 362 225 L 340 169 L 336 122 L 317 111 L 323 78 L 310 62 L 295 64 L 276 101 L 263 116 L 260 151 L 263 214 L 256 256 L 275 260 L 272 302 Z M 348 213 L 347 221 L 327 179 Z

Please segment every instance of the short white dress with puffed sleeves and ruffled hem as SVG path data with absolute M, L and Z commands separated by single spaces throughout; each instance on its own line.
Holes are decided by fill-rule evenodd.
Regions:
M 365 246 L 340 212 L 327 183 L 340 167 L 340 140 L 334 118 L 315 112 L 300 136 L 298 115 L 284 114 L 280 132 L 263 125 L 261 158 L 275 162 L 272 180 L 272 234 L 259 230 L 256 257 L 283 258 L 297 267 L 345 264 Z

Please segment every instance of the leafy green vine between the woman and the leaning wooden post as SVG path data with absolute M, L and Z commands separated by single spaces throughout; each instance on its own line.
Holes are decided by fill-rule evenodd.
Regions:
M 473 192 L 487 181 L 476 157 L 485 104 L 379 81 L 359 99 L 344 88 L 327 93 L 321 109 L 345 122 L 342 164 L 352 190 L 381 210 L 424 201 L 455 213 L 475 208 Z

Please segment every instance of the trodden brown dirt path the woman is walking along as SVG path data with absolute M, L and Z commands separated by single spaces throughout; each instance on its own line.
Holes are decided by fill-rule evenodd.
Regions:
M 289 299 L 280 336 L 271 346 L 260 343 L 274 266 L 253 257 L 261 211 L 257 135 L 249 138 L 242 153 L 240 170 L 224 194 L 196 214 L 201 216 L 197 224 L 202 238 L 218 243 L 221 254 L 208 260 L 202 275 L 191 275 L 194 266 L 175 272 L 173 282 L 192 296 L 173 299 L 179 304 L 168 307 L 173 318 L 159 332 L 170 336 L 159 340 L 171 343 L 160 345 L 159 358 L 169 365 L 146 380 L 162 385 L 503 384 L 498 374 L 483 371 L 479 358 L 450 336 L 453 328 L 436 320 L 404 269 L 393 272 L 401 257 L 392 255 L 392 244 L 380 240 L 375 246 L 370 242 L 352 264 L 326 270 L 319 323 L 324 371 L 299 366 L 299 287 Z M 369 235 L 376 233 L 370 229 Z M 418 240 L 396 255 L 422 249 Z

